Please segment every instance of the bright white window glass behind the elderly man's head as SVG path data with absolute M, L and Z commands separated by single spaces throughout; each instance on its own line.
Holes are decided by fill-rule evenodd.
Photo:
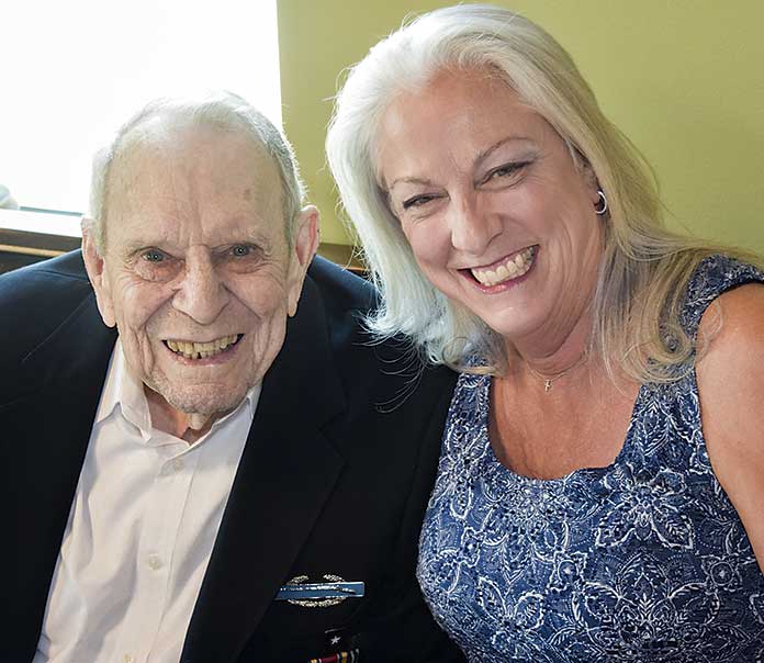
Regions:
M 278 126 L 276 0 L 11 0 L 0 10 L 0 184 L 85 212 L 92 155 L 155 97 L 227 89 Z

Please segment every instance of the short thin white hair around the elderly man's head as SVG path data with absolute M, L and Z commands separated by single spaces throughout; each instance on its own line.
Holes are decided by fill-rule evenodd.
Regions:
M 88 223 L 99 251 L 103 252 L 105 248 L 112 166 L 122 150 L 139 146 L 141 128 L 156 117 L 166 119 L 170 125 L 192 123 L 225 132 L 237 132 L 262 147 L 273 159 L 279 171 L 286 239 L 291 246 L 294 224 L 305 198 L 305 187 L 300 179 L 292 146 L 273 123 L 248 101 L 232 92 L 218 91 L 200 97 L 156 99 L 125 122 L 110 143 L 96 153 Z

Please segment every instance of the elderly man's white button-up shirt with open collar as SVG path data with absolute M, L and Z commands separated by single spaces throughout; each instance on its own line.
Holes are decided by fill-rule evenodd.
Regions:
M 178 663 L 259 395 L 189 445 L 151 428 L 117 339 L 34 663 Z

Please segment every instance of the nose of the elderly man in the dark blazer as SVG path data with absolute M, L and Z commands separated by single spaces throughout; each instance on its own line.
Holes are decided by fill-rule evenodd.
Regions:
M 176 310 L 201 325 L 209 325 L 215 322 L 229 297 L 209 254 L 198 251 L 186 257 L 183 281 L 172 300 Z

